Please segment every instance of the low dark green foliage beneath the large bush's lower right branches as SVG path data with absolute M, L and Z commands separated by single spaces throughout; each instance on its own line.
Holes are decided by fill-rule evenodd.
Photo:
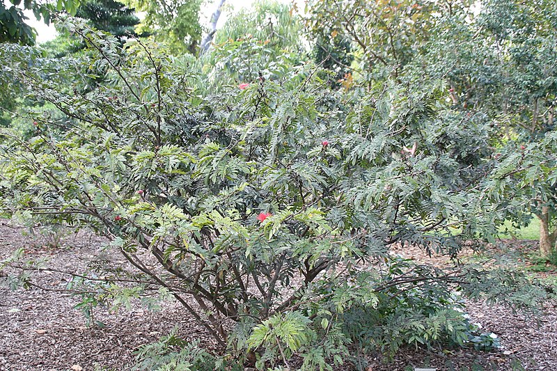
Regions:
M 497 347 L 496 336 L 479 333 L 469 322 L 469 316 L 462 313 L 464 301 L 460 292 L 453 289 L 452 283 L 460 277 L 476 279 L 469 269 L 446 273 L 414 265 L 410 260 L 395 259 L 384 277 L 375 278 L 380 284 L 374 287 L 372 299 L 351 301 L 347 310 L 341 312 L 343 332 L 363 354 L 373 349 L 394 354 L 405 345 L 430 349 L 438 345 Z M 360 285 L 370 278 L 363 274 Z

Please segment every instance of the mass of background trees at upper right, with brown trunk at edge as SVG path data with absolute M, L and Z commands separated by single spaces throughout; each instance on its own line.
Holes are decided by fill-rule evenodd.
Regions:
M 483 154 L 485 171 L 493 168 L 494 178 L 508 173 L 496 182 L 496 187 L 505 190 L 492 194 L 495 203 L 502 199 L 507 203 L 499 205 L 500 212 L 492 210 L 494 225 L 505 219 L 524 225 L 531 214 L 538 216 L 540 252 L 548 255 L 555 237 L 551 167 L 538 173 L 535 187 L 514 182 L 512 175 L 522 176 L 520 169 L 528 153 L 521 148 L 538 143 L 554 129 L 557 53 L 551 35 L 556 30 L 555 3 L 485 1 L 479 13 L 471 5 L 469 1 L 379 1 L 376 5 L 320 1 L 313 5 L 306 24 L 314 34 L 344 35 L 351 40 L 352 54 L 361 66 L 351 76 L 356 84 L 373 81 L 366 77 L 370 73 L 374 78 L 392 74 L 409 90 L 421 90 L 423 84 L 435 80 L 446 84 L 446 95 L 441 98 L 449 103 L 446 114 L 464 115 L 464 122 L 481 121 L 489 129 L 492 152 Z M 352 10 L 343 13 L 340 8 Z

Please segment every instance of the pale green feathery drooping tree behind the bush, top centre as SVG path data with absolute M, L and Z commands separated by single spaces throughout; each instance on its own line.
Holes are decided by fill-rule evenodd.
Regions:
M 224 81 L 237 86 L 271 78 L 271 71 L 274 77 L 286 73 L 288 66 L 306 58 L 300 31 L 299 17 L 286 4 L 259 1 L 240 10 L 199 58 L 206 91 L 220 91 Z

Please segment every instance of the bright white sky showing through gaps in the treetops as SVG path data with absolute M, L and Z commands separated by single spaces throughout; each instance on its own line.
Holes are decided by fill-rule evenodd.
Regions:
M 218 0 L 217 0 L 218 1 Z M 209 22 L 210 15 L 214 12 L 215 7 L 217 6 L 215 0 L 205 0 L 203 5 L 201 6 L 201 12 L 205 16 L 205 23 Z M 249 8 L 256 0 L 226 0 L 224 3 L 224 11 L 221 13 L 221 17 L 219 18 L 219 23 L 217 24 L 217 28 L 222 26 L 224 22 L 226 22 L 226 18 L 230 14 L 234 14 L 238 10 L 242 8 Z M 292 3 L 292 0 L 277 0 L 281 3 Z M 50 25 L 47 26 L 45 22 L 38 21 L 33 15 L 31 10 L 25 10 L 24 14 L 26 17 L 29 18 L 27 23 L 34 27 L 37 30 L 37 42 L 40 44 L 42 42 L 46 42 L 48 40 L 52 40 L 56 37 L 56 29 L 54 26 Z M 203 19 L 202 21 L 203 22 Z

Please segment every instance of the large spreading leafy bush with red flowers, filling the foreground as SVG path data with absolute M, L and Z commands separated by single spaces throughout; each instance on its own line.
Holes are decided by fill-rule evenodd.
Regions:
M 55 74 L 45 75 L 49 61 L 17 65 L 17 79 L 63 118 L 36 117 L 29 140 L 3 130 L 1 207 L 108 237 L 141 272 L 138 287 L 170 293 L 234 363 L 280 368 L 301 356 L 304 370 L 330 370 L 352 345 L 462 345 L 471 327 L 451 290 L 519 306 L 546 295 L 519 274 L 389 255 L 402 244 L 455 257 L 463 239 L 496 232 L 478 191 L 493 166 L 489 127 L 444 105 L 441 82 L 416 91 L 394 79 L 345 94 L 317 66 L 285 58 L 246 74 L 248 86 L 228 76 L 205 95 L 196 65 L 173 63 L 157 45 L 122 49 L 74 19 L 65 27 L 91 53 Z M 227 47 L 225 65 L 247 47 L 266 53 L 251 41 Z M 107 85 L 87 88 L 105 70 Z M 60 72 L 77 77 L 66 86 Z M 141 294 L 111 287 L 99 285 L 100 299 Z M 212 362 L 174 348 L 183 345 L 170 336 L 145 348 L 141 367 Z

